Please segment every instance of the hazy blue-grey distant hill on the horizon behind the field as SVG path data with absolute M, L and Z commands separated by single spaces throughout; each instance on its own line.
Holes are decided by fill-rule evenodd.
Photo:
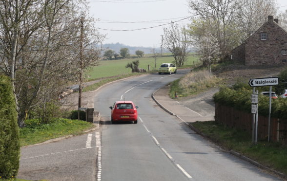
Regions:
M 128 45 L 124 45 L 122 43 L 107 43 L 102 45 L 104 48 L 111 49 L 119 54 L 122 48 L 128 48 L 130 54 L 136 54 L 137 50 L 143 51 L 144 54 L 151 54 L 152 47 L 131 47 Z M 161 48 L 155 48 L 157 53 L 161 53 Z M 167 53 L 168 51 L 163 50 L 163 53 Z

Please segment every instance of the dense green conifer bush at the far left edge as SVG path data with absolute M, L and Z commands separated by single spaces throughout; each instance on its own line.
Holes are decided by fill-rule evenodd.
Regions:
M 0 75 L 0 177 L 15 177 L 19 169 L 19 129 L 11 81 Z

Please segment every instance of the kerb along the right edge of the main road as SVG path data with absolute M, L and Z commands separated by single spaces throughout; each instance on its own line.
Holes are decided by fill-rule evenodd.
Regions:
M 162 89 L 162 88 L 160 88 L 160 89 Z M 160 90 L 160 89 L 158 89 L 158 90 Z M 159 105 L 162 109 L 164 109 L 164 111 L 166 111 L 166 112 L 169 113 L 170 115 L 173 115 L 173 116 L 177 117 L 179 120 L 183 121 L 188 127 L 190 127 L 192 130 L 194 130 L 197 134 L 199 134 L 199 135 L 201 135 L 202 137 L 204 137 L 206 140 L 211 140 L 214 144 L 216 144 L 211 138 L 209 138 L 208 136 L 206 136 L 206 135 L 205 135 L 203 132 L 201 132 L 199 129 L 197 129 L 196 127 L 194 127 L 194 126 L 192 126 L 192 125 L 190 125 L 190 124 L 188 124 L 188 123 L 186 123 L 186 122 L 185 122 L 182 118 L 180 118 L 178 115 L 176 115 L 176 114 L 173 113 L 172 111 L 166 109 L 166 108 L 154 97 L 154 94 L 155 94 L 158 90 L 154 91 L 154 92 L 151 94 L 152 99 L 155 101 L 155 103 L 156 103 L 157 105 Z M 218 144 L 216 144 L 216 145 L 218 145 Z M 218 146 L 219 146 L 219 145 L 218 145 Z M 225 149 L 222 148 L 221 146 L 219 146 L 219 147 L 220 147 L 221 149 L 225 150 Z M 266 166 L 264 166 L 264 165 L 262 165 L 262 164 L 260 164 L 260 163 L 258 163 L 258 162 L 256 162 L 256 161 L 254 161 L 254 160 L 252 160 L 252 159 L 250 159 L 250 158 L 248 158 L 248 157 L 242 155 L 241 153 L 238 153 L 238 152 L 236 152 L 236 151 L 234 151 L 234 150 L 232 150 L 232 149 L 231 149 L 231 150 L 225 150 L 225 151 L 227 151 L 229 154 L 232 154 L 232 155 L 234 155 L 234 156 L 236 156 L 236 157 L 238 157 L 238 158 L 240 158 L 240 159 L 243 159 L 243 160 L 245 160 L 245 161 L 247 161 L 247 162 L 249 162 L 249 163 L 251 163 L 251 164 L 253 164 L 253 165 L 257 166 L 257 167 L 259 167 L 259 168 L 266 169 L 266 170 L 272 172 L 273 174 L 275 174 L 275 175 L 277 175 L 277 176 L 279 176 L 279 177 L 282 177 L 282 178 L 284 178 L 284 179 L 287 179 L 287 175 L 285 175 L 285 174 L 283 174 L 283 173 L 281 173 L 281 172 L 279 172 L 279 171 L 276 171 L 276 170 L 274 170 L 274 169 L 272 169 L 272 168 L 266 167 Z

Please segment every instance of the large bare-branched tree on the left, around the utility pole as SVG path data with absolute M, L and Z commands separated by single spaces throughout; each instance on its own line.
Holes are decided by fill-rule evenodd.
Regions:
M 76 1 L 6 2 L 0 1 L 0 70 L 13 80 L 22 127 L 27 112 L 39 106 L 44 109 L 47 102 L 57 99 L 66 82 L 78 80 L 80 70 L 97 64 L 101 50 L 94 44 L 101 43 L 102 36 L 92 28 L 92 19 L 86 18 L 80 66 L 81 25 Z M 26 3 L 19 6 L 21 10 L 14 6 L 22 2 Z M 11 18 L 18 11 L 21 16 Z

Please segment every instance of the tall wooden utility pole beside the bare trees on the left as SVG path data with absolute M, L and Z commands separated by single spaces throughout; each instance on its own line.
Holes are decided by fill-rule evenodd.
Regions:
M 83 17 L 81 17 L 81 30 L 80 30 L 80 77 L 79 77 L 79 103 L 78 103 L 78 120 L 80 120 L 80 110 L 82 107 L 82 52 L 83 52 Z

